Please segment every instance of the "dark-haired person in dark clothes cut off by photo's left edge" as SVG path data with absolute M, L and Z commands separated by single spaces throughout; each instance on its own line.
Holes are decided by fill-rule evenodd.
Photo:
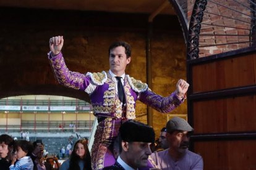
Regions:
M 11 165 L 11 153 L 13 150 L 14 140 L 11 136 L 7 134 L 2 134 L 0 136 L 0 168 L 2 170 L 9 169 Z

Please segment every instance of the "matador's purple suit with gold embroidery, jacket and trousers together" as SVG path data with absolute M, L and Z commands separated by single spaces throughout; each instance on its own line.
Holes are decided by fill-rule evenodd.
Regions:
M 162 97 L 151 92 L 147 84 L 126 75 L 124 79 L 126 111 L 123 111 L 121 101 L 116 93 L 116 83 L 108 72 L 88 72 L 84 75 L 69 71 L 61 53 L 53 58 L 50 55 L 48 57 L 54 75 L 60 84 L 85 92 L 90 84 L 96 86 L 95 91 L 90 94 L 93 114 L 98 118 L 106 117 L 106 119 L 98 124 L 95 132 L 95 141 L 92 148 L 93 169 L 102 169 L 115 163 L 116 160 L 114 160 L 113 154 L 109 150 L 109 145 L 113 144 L 122 119 L 135 118 L 136 100 L 140 100 L 161 113 L 168 113 L 183 102 L 183 100 L 177 98 L 175 92 L 168 97 Z

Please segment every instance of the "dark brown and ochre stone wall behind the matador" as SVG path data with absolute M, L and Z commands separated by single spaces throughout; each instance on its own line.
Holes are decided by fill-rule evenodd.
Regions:
M 142 14 L 108 14 L 67 10 L 0 10 L 1 97 L 51 94 L 88 100 L 81 92 L 61 87 L 49 67 L 49 38 L 64 36 L 62 53 L 72 71 L 108 70 L 108 46 L 124 40 L 132 46 L 126 73 L 146 81 L 147 17 Z M 176 16 L 157 16 L 153 24 L 152 91 L 166 96 L 179 78 L 186 79 L 186 46 Z M 146 107 L 137 103 L 138 120 L 147 123 Z M 172 113 L 186 114 L 186 103 Z M 158 136 L 166 115 L 153 112 Z

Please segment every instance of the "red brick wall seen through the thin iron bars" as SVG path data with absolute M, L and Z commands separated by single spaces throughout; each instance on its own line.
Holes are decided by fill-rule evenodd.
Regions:
M 210 25 L 202 24 L 202 29 L 200 32 L 200 34 L 210 34 L 210 35 L 199 36 L 200 38 L 199 46 L 208 46 L 208 45 L 212 45 L 212 46 L 200 47 L 199 57 L 205 57 L 212 54 L 219 54 L 221 52 L 233 51 L 236 49 L 241 49 L 243 47 L 249 47 L 250 45 L 248 42 L 242 43 L 242 44 L 235 44 L 236 42 L 245 42 L 250 40 L 249 36 L 241 36 L 241 35 L 248 35 L 250 33 L 250 27 L 251 27 L 250 10 L 234 1 L 232 2 L 215 1 L 215 2 L 220 3 L 222 6 L 208 1 L 207 7 L 204 12 L 202 23 L 207 23 Z M 249 1 L 244 0 L 241 2 L 245 6 L 250 6 Z M 189 4 L 187 15 L 188 15 L 188 20 L 190 21 L 195 1 L 187 1 L 187 3 Z M 237 12 L 235 10 L 237 10 Z M 213 14 L 218 14 L 218 15 L 213 15 Z M 223 17 L 223 16 L 226 16 L 226 17 Z M 231 18 L 227 18 L 227 17 L 231 17 Z M 213 25 L 222 25 L 222 26 L 213 26 Z M 228 26 L 234 27 L 234 28 L 229 28 Z M 240 28 L 245 28 L 249 30 L 244 30 Z M 216 34 L 224 34 L 224 35 L 216 36 Z M 229 36 L 230 34 L 235 34 L 237 36 Z M 230 43 L 234 43 L 234 44 L 230 44 Z M 225 45 L 215 46 L 215 44 L 225 44 Z

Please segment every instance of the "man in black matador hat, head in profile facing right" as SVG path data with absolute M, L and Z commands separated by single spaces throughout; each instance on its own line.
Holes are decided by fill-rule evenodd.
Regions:
M 119 156 L 112 166 L 105 170 L 138 169 L 148 165 L 151 155 L 150 144 L 155 142 L 155 132 L 146 124 L 129 120 L 119 128 Z

